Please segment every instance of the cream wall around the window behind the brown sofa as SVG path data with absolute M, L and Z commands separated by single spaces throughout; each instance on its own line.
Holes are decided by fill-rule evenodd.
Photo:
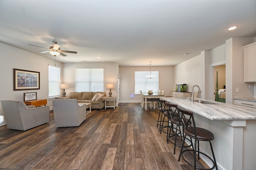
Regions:
M 117 96 L 117 77 L 118 77 L 118 64 L 117 63 L 63 63 L 63 82 L 69 84 L 69 89 L 65 90 L 69 95 L 70 92 L 75 92 L 75 68 L 104 68 L 104 92 L 107 96 L 109 89 L 106 84 L 113 83 L 114 89 L 111 90 L 112 96 Z M 118 101 L 118 99 L 117 99 Z

